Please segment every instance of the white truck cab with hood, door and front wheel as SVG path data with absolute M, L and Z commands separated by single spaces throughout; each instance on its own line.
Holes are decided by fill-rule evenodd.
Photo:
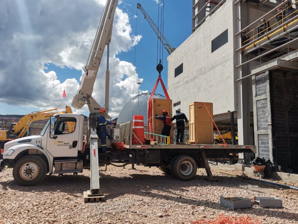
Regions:
M 4 145 L 0 170 L 13 168 L 13 177 L 20 185 L 35 185 L 47 173 L 82 172 L 84 116 L 57 113 L 50 117 L 39 135 L 27 136 Z M 54 168 L 54 169 L 53 169 Z

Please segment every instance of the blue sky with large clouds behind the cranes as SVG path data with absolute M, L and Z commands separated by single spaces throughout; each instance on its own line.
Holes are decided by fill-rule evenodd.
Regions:
M 64 88 L 67 97 L 62 105 L 70 105 L 78 88 L 81 67 L 88 59 L 91 49 L 89 45 L 93 42 L 95 28 L 103 10 L 103 0 L 97 0 L 101 2 L 99 4 L 95 4 L 94 0 L 87 1 L 89 3 L 86 4 L 78 0 L 71 1 L 73 7 L 69 7 L 67 1 L 58 1 L 60 9 L 55 7 L 55 1 L 1 1 L 0 32 L 4 35 L 0 37 L 0 50 L 4 53 L 0 56 L 0 114 L 27 114 L 58 107 Z M 136 91 L 125 84 L 132 76 L 135 47 L 135 82 L 143 79 L 140 90 L 151 91 L 158 78 L 157 36 L 141 11 L 136 10 L 138 2 L 156 23 L 158 10 L 161 9 L 156 0 L 119 1 L 117 7 L 121 11 L 115 16 L 117 22 L 114 23 L 112 33 L 112 56 L 110 54 L 111 74 L 116 71 L 119 73 L 115 76 L 118 77 L 117 80 L 110 80 L 112 93 L 113 88 L 117 86 L 115 95 L 110 98 L 113 101 L 110 105 L 114 116 L 117 116 L 123 104 L 130 99 L 132 92 Z M 164 35 L 173 47 L 178 47 L 191 34 L 191 4 L 190 0 L 164 1 Z M 86 9 L 82 10 L 85 5 Z M 63 7 L 65 15 L 59 11 L 63 10 Z M 13 13 L 14 8 L 17 9 L 16 13 Z M 141 35 L 142 38 L 133 45 L 132 40 L 137 35 Z M 168 53 L 163 47 L 162 49 L 162 79 L 167 86 Z M 102 70 L 105 70 L 105 60 L 103 58 L 101 62 Z M 121 68 L 126 71 L 121 71 Z M 103 72 L 100 70 L 99 73 L 99 80 L 94 85 L 92 96 L 102 102 L 100 81 Z M 160 85 L 156 92 L 163 94 Z M 86 109 L 76 112 L 89 114 Z

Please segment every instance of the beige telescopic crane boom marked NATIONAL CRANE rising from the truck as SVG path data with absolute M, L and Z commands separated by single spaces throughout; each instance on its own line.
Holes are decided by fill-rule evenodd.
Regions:
M 92 92 L 94 82 L 97 76 L 99 65 L 105 50 L 105 45 L 111 42 L 111 34 L 113 28 L 114 14 L 117 7 L 118 0 L 107 0 L 103 15 L 100 20 L 100 24 L 97 29 L 97 33 L 91 48 L 91 52 L 86 66 L 83 67 L 83 78 L 78 89 L 77 95 L 73 97 L 72 106 L 80 109 L 88 104 L 90 113 L 98 114 L 98 110 L 101 106 L 93 99 Z M 108 67 L 108 66 L 107 66 Z M 108 88 L 109 88 L 109 71 L 106 71 L 105 82 L 105 109 L 108 113 Z

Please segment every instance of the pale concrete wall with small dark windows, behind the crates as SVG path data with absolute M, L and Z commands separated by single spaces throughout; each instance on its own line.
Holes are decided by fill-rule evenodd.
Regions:
M 213 103 L 213 113 L 235 111 L 232 0 L 224 3 L 186 41 L 168 56 L 168 93 L 173 103 L 181 101 L 188 116 L 191 102 Z M 211 41 L 228 29 L 228 43 L 211 52 Z M 183 63 L 183 73 L 175 68 Z

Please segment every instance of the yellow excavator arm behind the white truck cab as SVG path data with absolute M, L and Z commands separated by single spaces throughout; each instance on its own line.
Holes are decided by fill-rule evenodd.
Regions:
M 64 109 L 64 110 L 63 110 Z M 52 112 L 51 111 L 55 111 Z M 61 108 L 54 108 L 47 111 L 38 111 L 34 113 L 28 113 L 21 120 L 18 121 L 16 125 L 13 126 L 11 134 L 17 135 L 17 138 L 21 138 L 27 132 L 28 128 L 30 128 L 30 124 L 37 120 L 49 119 L 51 115 L 55 113 L 72 113 L 72 109 L 69 106 L 61 107 Z M 69 127 L 69 131 L 73 131 L 74 125 L 69 122 L 67 123 Z

